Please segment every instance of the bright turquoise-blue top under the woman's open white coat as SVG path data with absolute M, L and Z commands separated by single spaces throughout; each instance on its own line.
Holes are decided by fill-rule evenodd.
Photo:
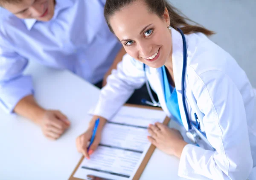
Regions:
M 163 85 L 164 85 L 164 96 L 166 100 L 166 105 L 172 116 L 175 117 L 175 120 L 179 125 L 183 126 L 181 116 L 180 116 L 180 108 L 178 105 L 178 97 L 177 91 L 175 88 L 171 86 L 168 81 L 168 77 L 166 74 L 165 66 L 162 67 L 163 72 Z

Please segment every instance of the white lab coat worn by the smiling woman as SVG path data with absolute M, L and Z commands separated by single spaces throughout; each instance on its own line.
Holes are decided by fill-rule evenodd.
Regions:
M 236 61 L 201 33 L 185 35 L 187 67 L 185 80 L 189 118 L 197 114 L 201 131 L 216 151 L 192 144 L 186 145 L 180 158 L 178 175 L 192 180 L 256 180 L 256 97 L 253 88 Z M 179 32 L 172 29 L 173 73 L 180 115 L 187 129 L 181 97 L 183 43 Z M 157 93 L 163 110 L 167 109 L 161 68 L 147 67 L 125 55 L 117 70 L 108 77 L 101 90 L 95 114 L 110 119 L 145 83 Z

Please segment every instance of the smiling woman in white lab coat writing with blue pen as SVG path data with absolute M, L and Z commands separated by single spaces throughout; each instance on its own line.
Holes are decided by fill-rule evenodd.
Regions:
M 88 130 L 76 140 L 78 151 L 89 158 L 106 119 L 149 82 L 160 106 L 194 142 L 163 124 L 149 125 L 148 140 L 180 158 L 180 177 L 256 179 L 256 98 L 236 61 L 207 38 L 212 32 L 187 23 L 165 0 L 107 0 L 105 19 L 128 54 L 102 89 Z M 152 104 L 159 105 L 154 99 Z M 87 154 L 97 118 L 100 125 Z

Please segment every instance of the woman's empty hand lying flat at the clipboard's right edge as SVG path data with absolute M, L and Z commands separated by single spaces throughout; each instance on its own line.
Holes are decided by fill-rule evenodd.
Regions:
M 183 140 L 180 131 L 177 129 L 170 129 L 168 126 L 159 122 L 155 125 L 149 125 L 148 140 L 158 149 L 169 155 L 181 156 L 182 150 L 188 143 Z

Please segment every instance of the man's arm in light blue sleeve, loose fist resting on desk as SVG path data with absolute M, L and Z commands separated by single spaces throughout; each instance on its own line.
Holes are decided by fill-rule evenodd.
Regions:
M 41 126 L 45 136 L 57 139 L 69 127 L 61 112 L 44 110 L 33 98 L 32 78 L 23 75 L 28 60 L 12 50 L 0 32 L 0 106 L 8 113 L 17 113 Z

